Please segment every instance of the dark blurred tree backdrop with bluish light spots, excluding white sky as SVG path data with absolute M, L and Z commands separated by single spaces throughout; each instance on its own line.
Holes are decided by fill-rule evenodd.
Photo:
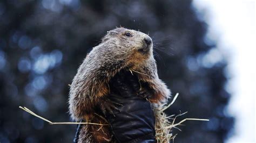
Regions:
M 188 0 L 1 1 L 0 142 L 72 142 L 75 125 L 47 125 L 18 106 L 68 121 L 68 84 L 86 53 L 120 25 L 152 37 L 159 76 L 180 93 L 167 112 L 210 119 L 173 130 L 176 142 L 223 142 L 233 126 L 226 61 Z

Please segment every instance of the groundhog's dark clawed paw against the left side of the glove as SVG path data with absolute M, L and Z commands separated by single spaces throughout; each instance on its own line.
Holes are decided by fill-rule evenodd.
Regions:
M 111 113 L 114 116 L 113 110 L 118 110 L 119 109 L 116 107 L 117 105 L 122 105 L 117 102 L 113 102 L 110 99 L 105 99 L 101 103 L 99 103 L 100 110 L 102 110 L 103 114 L 106 115 L 106 113 Z

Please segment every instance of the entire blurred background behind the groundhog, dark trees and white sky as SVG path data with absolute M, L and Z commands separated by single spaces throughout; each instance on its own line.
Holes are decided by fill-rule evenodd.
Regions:
M 188 113 L 175 142 L 255 142 L 254 1 L 0 1 L 0 142 L 72 142 L 69 85 L 116 26 L 149 33 L 158 74 Z

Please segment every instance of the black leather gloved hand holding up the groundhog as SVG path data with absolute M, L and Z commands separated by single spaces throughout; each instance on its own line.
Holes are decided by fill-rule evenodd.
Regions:
M 118 110 L 106 113 L 118 142 L 156 142 L 154 114 L 151 104 L 140 97 L 138 78 L 130 71 L 120 71 L 110 82 L 110 100 L 122 104 Z

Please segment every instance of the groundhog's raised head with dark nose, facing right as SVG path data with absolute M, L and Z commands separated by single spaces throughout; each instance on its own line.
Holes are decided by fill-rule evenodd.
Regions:
M 116 47 L 115 54 L 120 54 L 133 64 L 138 64 L 153 55 L 153 43 L 149 35 L 123 27 L 108 31 L 102 43 Z

